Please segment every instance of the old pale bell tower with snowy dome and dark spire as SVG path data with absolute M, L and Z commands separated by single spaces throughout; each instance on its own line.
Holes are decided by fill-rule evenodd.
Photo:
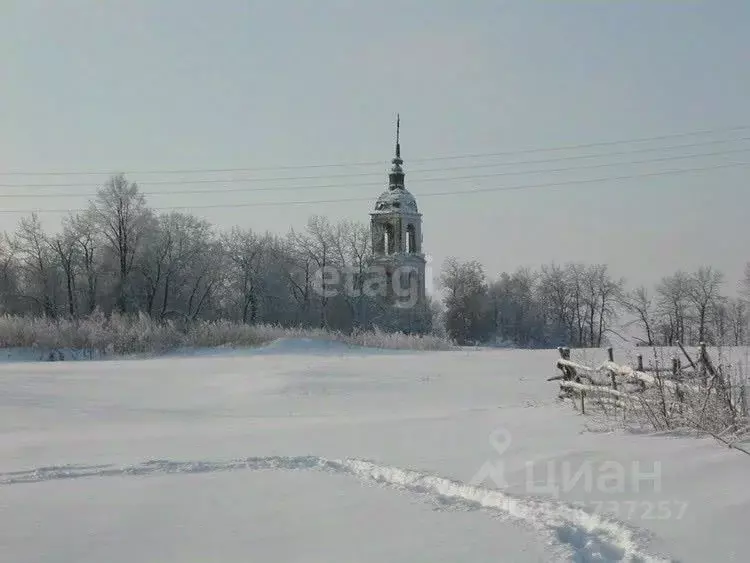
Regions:
M 406 189 L 401 160 L 401 116 L 396 120 L 396 156 L 391 160 L 388 189 L 370 213 L 372 264 L 385 273 L 387 302 L 414 308 L 425 300 L 425 257 L 422 252 L 422 214 Z

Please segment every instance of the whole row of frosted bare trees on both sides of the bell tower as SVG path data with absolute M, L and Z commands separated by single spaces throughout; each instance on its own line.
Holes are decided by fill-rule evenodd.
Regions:
M 321 291 L 320 273 L 331 268 L 353 273 L 341 283 L 361 290 L 371 244 L 368 225 L 320 216 L 285 235 L 217 231 L 194 215 L 155 213 L 138 186 L 117 175 L 58 232 L 46 233 L 32 214 L 0 238 L 0 313 L 402 330 L 403 314 L 383 299 Z M 710 267 L 628 289 L 602 264 L 489 279 L 480 263 L 451 258 L 439 282 L 441 302 L 428 299 L 415 326 L 461 344 L 597 347 L 621 330 L 643 345 L 747 343 L 750 267 L 738 297 L 725 295 L 724 276 Z

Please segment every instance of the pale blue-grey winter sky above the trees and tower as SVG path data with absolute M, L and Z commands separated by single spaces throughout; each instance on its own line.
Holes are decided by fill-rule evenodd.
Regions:
M 750 259 L 750 167 L 570 182 L 748 163 L 750 141 L 740 139 L 750 128 L 416 159 L 749 126 L 748 29 L 750 4 L 741 0 L 5 0 L 0 172 L 124 171 L 144 191 L 162 192 L 148 197 L 151 205 L 188 206 L 219 227 L 283 233 L 311 214 L 367 221 L 386 186 L 400 112 L 406 182 L 434 263 L 476 258 L 495 275 L 551 261 L 607 262 L 631 283 L 712 264 L 733 284 Z M 679 144 L 695 146 L 663 148 Z M 550 161 L 647 148 L 654 150 Z M 507 164 L 529 160 L 549 162 Z M 643 160 L 651 162 L 622 164 Z M 376 164 L 279 168 L 361 161 Z M 580 168 L 612 162 L 621 164 Z M 276 169 L 137 173 L 256 167 Z M 446 170 L 453 167 L 462 168 Z M 370 175 L 333 177 L 352 173 Z M 280 177 L 287 179 L 146 185 Z M 3 174 L 0 229 L 15 229 L 23 215 L 15 210 L 82 208 L 104 178 Z M 72 185 L 29 187 L 50 183 Z M 566 184 L 460 193 L 549 183 Z M 310 187 L 331 184 L 339 187 Z M 175 190 L 205 193 L 164 193 Z M 455 195 L 427 195 L 446 191 Z M 337 199 L 356 201 L 278 205 Z M 61 216 L 42 214 L 50 228 Z

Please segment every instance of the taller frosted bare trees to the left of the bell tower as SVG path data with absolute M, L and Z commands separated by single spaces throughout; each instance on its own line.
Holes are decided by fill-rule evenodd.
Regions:
M 320 272 L 362 273 L 370 254 L 365 224 L 313 216 L 283 236 L 217 232 L 190 214 L 155 213 L 138 186 L 117 175 L 85 211 L 64 218 L 58 233 L 45 233 L 32 214 L 2 237 L 0 312 L 388 329 L 395 320 L 382 300 L 320 291 Z

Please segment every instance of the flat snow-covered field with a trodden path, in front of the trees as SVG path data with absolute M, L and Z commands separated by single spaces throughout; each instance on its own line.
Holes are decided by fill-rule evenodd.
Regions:
M 748 561 L 750 457 L 604 432 L 557 351 L 0 364 L 0 561 Z

